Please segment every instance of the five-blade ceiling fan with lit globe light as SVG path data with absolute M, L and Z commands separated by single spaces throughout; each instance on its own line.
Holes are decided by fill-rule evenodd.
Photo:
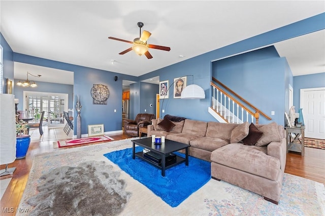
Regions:
M 113 38 L 113 37 L 108 37 L 109 39 L 116 40 L 116 41 L 122 41 L 126 42 L 129 44 L 133 44 L 132 47 L 128 48 L 127 50 L 124 50 L 120 52 L 120 55 L 123 55 L 131 50 L 134 50 L 138 55 L 145 55 L 147 56 L 148 59 L 152 58 L 152 55 L 149 53 L 148 48 L 152 49 L 157 49 L 157 50 L 165 50 L 165 51 L 170 51 L 170 47 L 164 47 L 164 46 L 158 46 L 158 45 L 153 45 L 153 44 L 147 44 L 147 40 L 149 39 L 151 33 L 149 31 L 144 30 L 141 34 L 141 28 L 143 27 L 143 22 L 138 22 L 138 26 L 140 28 L 140 38 L 135 38 L 132 41 L 126 41 L 123 39 L 118 39 L 118 38 Z

